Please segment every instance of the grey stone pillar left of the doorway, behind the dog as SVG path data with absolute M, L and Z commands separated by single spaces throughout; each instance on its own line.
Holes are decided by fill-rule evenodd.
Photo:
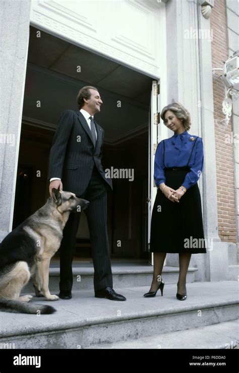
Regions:
M 12 230 L 31 0 L 0 7 L 0 242 Z

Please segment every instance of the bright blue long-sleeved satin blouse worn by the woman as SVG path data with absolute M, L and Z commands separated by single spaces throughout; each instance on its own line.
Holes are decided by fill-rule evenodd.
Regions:
M 202 138 L 190 135 L 188 131 L 185 131 L 180 135 L 175 134 L 169 139 L 160 141 L 154 159 L 154 180 L 156 186 L 158 187 L 161 183 L 165 183 L 165 168 L 185 166 L 189 166 L 190 171 L 187 173 L 182 185 L 189 189 L 197 183 L 203 171 Z

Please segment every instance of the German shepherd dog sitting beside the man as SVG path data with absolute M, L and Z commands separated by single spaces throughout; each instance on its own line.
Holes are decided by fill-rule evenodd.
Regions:
M 52 195 L 0 244 L 1 311 L 35 314 L 55 311 L 48 305 L 28 304 L 32 295 L 20 296 L 20 293 L 32 275 L 37 297 L 58 299 L 48 289 L 50 259 L 61 244 L 70 212 L 78 206 L 85 209 L 89 202 L 57 189 L 52 189 Z

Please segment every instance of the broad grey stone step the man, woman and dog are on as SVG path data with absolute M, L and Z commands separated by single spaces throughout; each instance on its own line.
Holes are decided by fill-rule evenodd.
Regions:
M 77 290 L 71 300 L 50 302 L 57 310 L 51 315 L 4 312 L 0 343 L 14 343 L 15 348 L 86 348 L 203 328 L 238 317 L 237 281 L 188 283 L 186 301 L 176 299 L 175 284 L 165 283 L 163 297 L 154 298 L 143 297 L 148 286 L 115 290 L 127 301 L 94 298 L 93 290 Z M 36 297 L 32 302 L 49 304 Z

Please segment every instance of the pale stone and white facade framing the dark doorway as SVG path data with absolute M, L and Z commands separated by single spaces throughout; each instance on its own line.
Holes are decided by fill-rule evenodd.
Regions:
M 211 44 L 205 38 L 187 37 L 186 32 L 210 30 L 201 2 L 6 1 L 1 9 L 1 21 L 0 132 L 14 134 L 15 145 L 6 142 L 0 146 L 0 240 L 12 227 L 31 24 L 160 80 L 161 106 L 173 99 L 190 109 L 192 132 L 203 138 L 205 150 L 204 175 L 199 182 L 205 237 L 214 242 L 213 250 L 194 256 L 191 265 L 198 268 L 198 281 L 227 279 L 229 244 L 221 242 L 217 232 Z M 237 120 L 238 111 L 234 108 L 234 126 L 238 126 Z M 165 128 L 160 131 L 162 138 L 169 135 Z M 235 168 L 238 164 L 235 159 Z M 166 263 L 177 265 L 175 255 L 168 255 Z

